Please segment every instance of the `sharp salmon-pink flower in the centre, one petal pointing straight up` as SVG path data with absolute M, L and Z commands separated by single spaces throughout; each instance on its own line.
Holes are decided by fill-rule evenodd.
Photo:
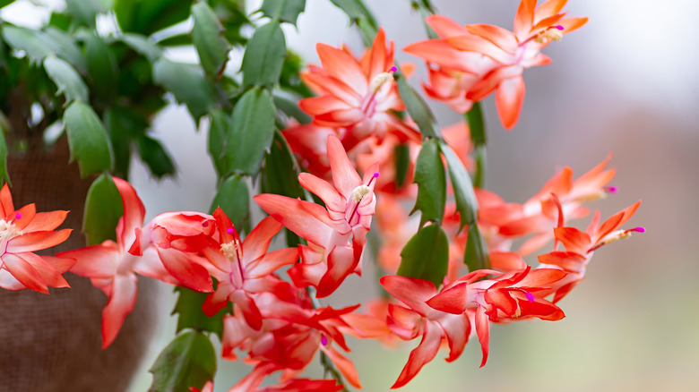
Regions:
M 289 277 L 297 287 L 313 285 L 319 298 L 332 294 L 352 272 L 360 272 L 378 177 L 377 165 L 359 177 L 334 135 L 328 137 L 327 149 L 333 184 L 315 175 L 298 175 L 301 185 L 321 198 L 326 209 L 280 195 L 255 196 L 264 211 L 308 242 L 299 245 L 301 262 L 289 268 Z

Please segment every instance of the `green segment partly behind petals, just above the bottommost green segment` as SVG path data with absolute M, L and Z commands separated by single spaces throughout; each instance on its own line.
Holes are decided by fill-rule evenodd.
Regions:
M 223 337 L 223 316 L 233 313 L 233 304 L 221 309 L 213 317 L 208 317 L 202 311 L 206 296 L 211 293 L 198 293 L 186 287 L 175 287 L 177 303 L 172 314 L 177 314 L 177 332 L 186 328 L 206 331 Z

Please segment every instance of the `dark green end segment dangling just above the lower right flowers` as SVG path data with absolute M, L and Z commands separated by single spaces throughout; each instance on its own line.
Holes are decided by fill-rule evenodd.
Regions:
M 401 251 L 398 275 L 429 280 L 442 285 L 449 267 L 449 239 L 438 224 L 425 226 L 410 238 Z

